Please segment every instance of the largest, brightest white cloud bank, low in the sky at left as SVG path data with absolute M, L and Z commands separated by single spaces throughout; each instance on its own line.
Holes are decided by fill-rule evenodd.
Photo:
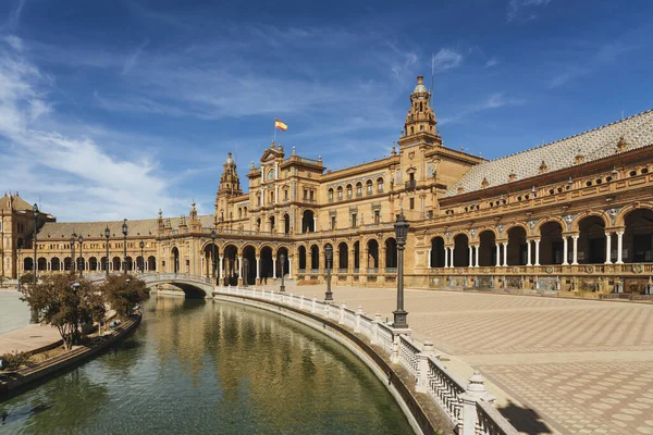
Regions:
M 177 211 L 147 157 L 118 158 L 91 137 L 62 134 L 71 126 L 57 119 L 42 122 L 56 116 L 44 97 L 50 86 L 28 60 L 0 49 L 0 161 L 11 167 L 0 185 L 29 201 L 41 198 L 44 209 L 62 220 L 153 217 L 159 207 Z

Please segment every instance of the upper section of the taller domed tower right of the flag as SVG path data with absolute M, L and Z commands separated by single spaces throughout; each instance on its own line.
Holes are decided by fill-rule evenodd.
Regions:
M 431 92 L 424 86 L 424 77 L 417 77 L 417 86 L 410 94 L 410 110 L 406 115 L 399 147 L 412 145 L 442 145 L 440 133 L 435 130 L 435 114 L 431 108 Z

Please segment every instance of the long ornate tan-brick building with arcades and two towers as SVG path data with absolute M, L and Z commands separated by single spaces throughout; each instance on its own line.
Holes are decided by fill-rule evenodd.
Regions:
M 35 264 L 56 273 L 78 268 L 71 259 L 81 258 L 87 272 L 108 264 L 214 275 L 225 284 L 282 273 L 321 281 L 331 245 L 336 283 L 394 286 L 393 222 L 403 211 L 412 287 L 638 293 L 646 286 L 653 111 L 486 161 L 444 145 L 430 100 L 420 76 L 398 147 L 341 171 L 272 142 L 252 162 L 244 192 L 230 153 L 214 213 L 198 215 L 192 204 L 187 216 L 127 221 L 126 259 L 123 222 L 58 223 L 46 214 L 34 259 L 32 207 L 5 195 L 2 273 L 15 277 Z M 73 233 L 82 244 L 71 245 Z

